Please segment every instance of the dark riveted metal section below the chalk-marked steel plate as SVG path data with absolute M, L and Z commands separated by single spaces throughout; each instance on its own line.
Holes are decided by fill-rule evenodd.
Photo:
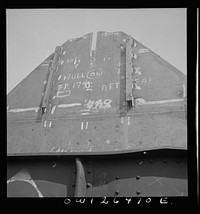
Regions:
M 187 156 L 180 150 L 9 157 L 7 163 L 8 197 L 188 196 Z

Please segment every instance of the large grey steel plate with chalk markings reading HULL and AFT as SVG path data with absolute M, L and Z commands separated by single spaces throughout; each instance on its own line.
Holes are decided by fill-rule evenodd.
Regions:
M 8 155 L 187 149 L 186 139 L 186 77 L 123 32 L 68 40 L 7 96 Z

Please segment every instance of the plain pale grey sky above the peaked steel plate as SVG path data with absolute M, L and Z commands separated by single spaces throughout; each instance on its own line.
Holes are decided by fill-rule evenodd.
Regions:
M 71 38 L 123 31 L 184 74 L 186 9 L 7 9 L 7 93 Z

